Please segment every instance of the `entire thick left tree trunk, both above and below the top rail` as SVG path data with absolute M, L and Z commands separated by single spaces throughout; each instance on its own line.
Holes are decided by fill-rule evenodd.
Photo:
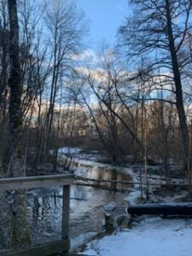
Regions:
M 11 156 L 9 161 L 9 176 L 25 176 L 24 150 L 21 142 L 21 96 L 22 84 L 20 76 L 19 55 L 19 24 L 17 17 L 16 0 L 8 0 L 9 8 L 9 61 L 10 61 L 10 102 L 9 102 L 9 130 L 11 137 Z M 30 238 L 26 221 L 26 191 L 18 189 L 14 194 L 13 213 L 13 246 L 25 247 L 29 245 Z

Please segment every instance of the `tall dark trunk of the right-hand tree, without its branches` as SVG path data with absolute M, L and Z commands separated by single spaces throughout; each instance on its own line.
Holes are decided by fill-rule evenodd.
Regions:
M 167 34 L 169 37 L 169 48 L 172 58 L 172 72 L 174 76 L 174 83 L 176 88 L 176 107 L 179 119 L 179 128 L 181 131 L 181 137 L 183 142 L 183 166 L 187 170 L 189 168 L 189 131 L 186 120 L 186 115 L 183 106 L 183 89 L 181 82 L 181 74 L 179 71 L 178 61 L 177 61 L 177 50 L 175 47 L 175 42 L 172 32 L 172 16 L 170 9 L 170 0 L 166 0 L 166 19 L 167 19 Z

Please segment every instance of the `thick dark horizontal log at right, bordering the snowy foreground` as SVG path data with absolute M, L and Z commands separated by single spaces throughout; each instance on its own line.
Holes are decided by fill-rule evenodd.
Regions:
M 161 214 L 161 215 L 191 215 L 192 204 L 146 204 L 129 206 L 127 212 L 131 215 Z

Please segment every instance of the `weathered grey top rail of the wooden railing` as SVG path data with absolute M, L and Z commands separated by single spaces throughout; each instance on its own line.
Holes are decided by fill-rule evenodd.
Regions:
M 73 181 L 73 174 L 0 178 L 0 190 L 54 187 L 60 185 L 70 185 L 73 184 Z

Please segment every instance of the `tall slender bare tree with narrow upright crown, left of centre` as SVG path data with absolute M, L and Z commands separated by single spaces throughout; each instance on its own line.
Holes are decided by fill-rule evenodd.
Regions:
M 49 87 L 49 106 L 44 125 L 43 152 L 47 152 L 49 135 L 53 124 L 55 101 L 63 86 L 68 70 L 72 68 L 72 56 L 79 52 L 84 36 L 84 15 L 79 13 L 71 1 L 50 2 L 45 17 L 49 32 L 51 58 L 51 77 Z

